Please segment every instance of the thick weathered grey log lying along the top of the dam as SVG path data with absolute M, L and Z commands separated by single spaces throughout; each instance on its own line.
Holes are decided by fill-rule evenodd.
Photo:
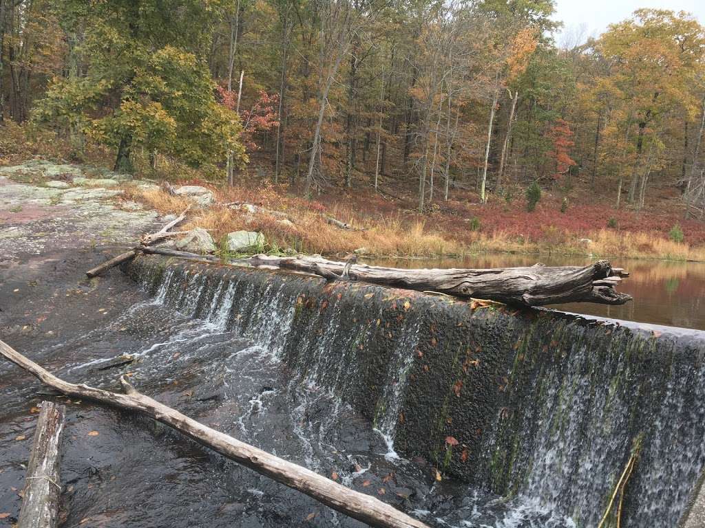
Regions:
M 253 266 L 268 265 L 297 270 L 331 278 L 341 276 L 345 263 L 320 257 L 271 257 L 257 255 L 241 259 Z M 624 304 L 632 296 L 618 293 L 615 286 L 623 270 L 611 268 L 607 260 L 585 266 L 548 267 L 533 265 L 527 268 L 474 269 L 418 269 L 383 268 L 352 265 L 348 279 L 382 284 L 384 286 L 417 291 L 438 291 L 460 297 L 491 299 L 520 306 L 589 302 Z

